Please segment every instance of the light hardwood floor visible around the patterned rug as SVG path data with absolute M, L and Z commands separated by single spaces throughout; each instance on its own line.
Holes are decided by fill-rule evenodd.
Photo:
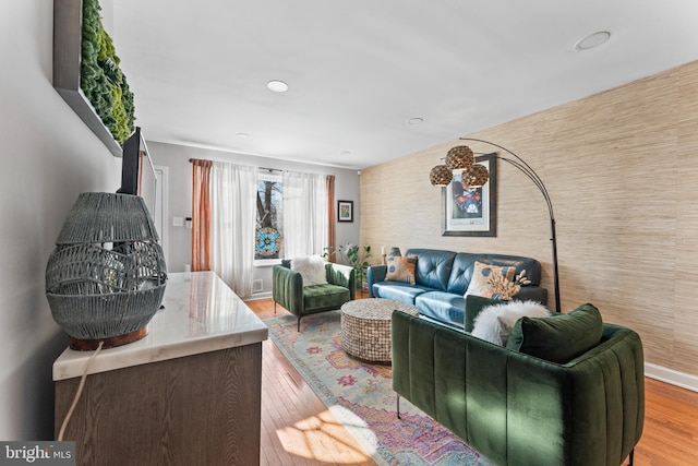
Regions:
M 274 316 L 270 299 L 246 304 L 261 319 Z M 286 312 L 277 307 L 277 313 Z M 698 393 L 652 379 L 645 386 L 645 430 L 635 465 L 698 465 Z M 261 464 L 375 464 L 272 340 L 263 344 Z

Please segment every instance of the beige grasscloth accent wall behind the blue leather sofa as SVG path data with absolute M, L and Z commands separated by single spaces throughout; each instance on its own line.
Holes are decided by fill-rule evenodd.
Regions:
M 547 186 L 563 312 L 592 302 L 640 334 L 648 362 L 698 375 L 698 61 L 470 135 L 518 153 Z M 429 170 L 458 144 L 362 171 L 362 244 L 533 256 L 552 308 L 547 212 L 516 168 L 497 165 L 495 238 L 441 235 Z

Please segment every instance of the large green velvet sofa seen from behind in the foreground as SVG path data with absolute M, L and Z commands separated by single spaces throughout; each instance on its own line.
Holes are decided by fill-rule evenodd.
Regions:
M 591 304 L 577 312 L 588 311 L 598 313 Z M 565 324 L 569 314 L 543 320 Z M 524 324 L 534 321 L 517 321 L 509 343 L 519 332 L 521 344 Z M 591 349 L 551 362 L 395 311 L 398 417 L 402 396 L 500 466 L 618 466 L 627 457 L 631 464 L 645 419 L 642 344 L 634 331 L 601 323 L 600 314 L 599 324 Z M 577 334 L 558 334 L 542 347 L 589 339 L 590 332 Z M 535 353 L 535 342 L 528 344 Z M 561 345 L 563 353 L 569 345 Z

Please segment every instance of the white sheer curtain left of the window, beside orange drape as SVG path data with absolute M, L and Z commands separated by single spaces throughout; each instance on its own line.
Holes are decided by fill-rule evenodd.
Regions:
M 210 268 L 241 298 L 252 295 L 256 187 L 256 167 L 214 162 Z

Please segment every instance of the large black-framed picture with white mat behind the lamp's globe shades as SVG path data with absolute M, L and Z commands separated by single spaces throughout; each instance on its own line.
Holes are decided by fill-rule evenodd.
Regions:
M 496 237 L 496 154 L 476 157 L 490 171 L 490 179 L 480 188 L 461 186 L 460 174 L 442 188 L 442 236 Z

